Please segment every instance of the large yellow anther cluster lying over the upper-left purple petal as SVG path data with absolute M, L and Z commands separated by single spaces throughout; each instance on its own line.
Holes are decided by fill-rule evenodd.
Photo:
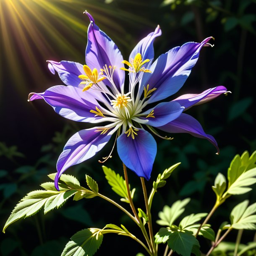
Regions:
M 88 89 L 91 88 L 91 86 L 93 86 L 94 84 L 97 84 L 100 81 L 105 79 L 104 76 L 100 77 L 101 73 L 99 74 L 96 68 L 94 68 L 91 71 L 91 68 L 89 68 L 87 65 L 84 65 L 83 69 L 84 69 L 84 73 L 86 73 L 86 75 L 82 74 L 82 75 L 78 76 L 78 78 L 83 80 L 83 82 L 81 82 L 81 84 L 86 84 L 83 91 L 87 91 Z

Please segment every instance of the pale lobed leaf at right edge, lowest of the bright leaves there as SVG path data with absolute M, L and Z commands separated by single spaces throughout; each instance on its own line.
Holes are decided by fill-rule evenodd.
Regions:
M 230 214 L 231 227 L 234 229 L 256 230 L 256 203 L 248 206 L 245 200 L 232 209 Z

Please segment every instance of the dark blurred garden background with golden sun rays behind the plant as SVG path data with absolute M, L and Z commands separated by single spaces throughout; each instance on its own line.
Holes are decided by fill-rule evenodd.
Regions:
M 235 154 L 256 149 L 255 138 L 255 39 L 256 2 L 254 0 L 1 0 L 0 1 L 0 219 L 3 227 L 18 200 L 29 191 L 39 189 L 47 175 L 55 172 L 57 157 L 68 138 L 89 124 L 64 120 L 44 102 L 26 102 L 31 91 L 44 91 L 61 84 L 47 69 L 46 60 L 72 60 L 84 63 L 88 10 L 97 24 L 118 44 L 124 59 L 146 34 L 159 24 L 162 36 L 155 42 L 155 56 L 185 42 L 201 42 L 215 37 L 213 48 L 204 48 L 183 88 L 175 96 L 199 93 L 209 87 L 224 85 L 232 91 L 209 104 L 189 110 L 219 143 L 220 155 L 207 141 L 187 134 L 175 134 L 172 141 L 157 140 L 158 153 L 152 179 L 171 165 L 182 162 L 168 186 L 156 194 L 153 219 L 165 204 L 187 197 L 193 198 L 187 214 L 197 209 L 209 212 L 214 204 L 211 185 L 218 172 L 226 173 Z M 157 138 L 156 138 L 157 139 Z M 110 143 L 111 144 L 111 143 Z M 106 156 L 104 148 L 100 157 Z M 101 184 L 102 193 L 115 194 L 104 181 L 97 157 L 70 168 L 67 173 L 80 178 L 85 174 Z M 122 175 L 116 153 L 106 163 Z M 132 187 L 140 189 L 140 181 L 129 172 Z M 84 184 L 82 184 L 84 183 Z M 143 205 L 141 197 L 135 204 Z M 117 200 L 118 197 L 116 197 Z M 254 189 L 246 195 L 227 201 L 219 208 L 211 223 L 218 227 L 222 218 L 244 199 L 255 199 Z M 117 217 L 118 216 L 118 217 Z M 100 198 L 78 203 L 68 201 L 63 208 L 42 212 L 10 226 L 0 234 L 3 256 L 60 255 L 65 244 L 78 230 L 103 227 L 106 223 L 133 223 L 119 218 L 120 212 Z M 132 228 L 132 227 L 131 227 Z M 159 226 L 155 223 L 154 231 Z M 243 243 L 253 240 L 246 231 Z M 234 241 L 232 234 L 227 241 Z M 109 246 L 110 241 L 116 244 Z M 105 236 L 97 255 L 136 255 L 142 251 L 133 241 L 114 235 Z M 201 245 L 201 248 L 204 249 Z M 232 246 L 232 245 L 231 245 Z M 126 254 L 125 254 L 126 253 Z

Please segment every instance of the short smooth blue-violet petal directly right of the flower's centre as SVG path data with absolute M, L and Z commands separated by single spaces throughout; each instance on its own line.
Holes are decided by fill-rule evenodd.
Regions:
M 175 103 L 175 104 L 173 104 Z M 140 117 L 142 120 L 149 120 L 146 125 L 151 125 L 154 127 L 165 125 L 166 123 L 175 120 L 183 112 L 184 107 L 181 107 L 177 102 L 162 102 L 159 103 L 156 107 L 147 110 L 144 112 L 144 115 L 148 115 L 152 110 L 154 110 L 154 118 L 144 118 Z

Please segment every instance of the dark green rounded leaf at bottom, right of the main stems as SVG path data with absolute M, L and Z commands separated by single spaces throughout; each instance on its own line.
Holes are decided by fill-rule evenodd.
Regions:
M 193 251 L 198 251 L 200 248 L 198 240 L 194 237 L 193 232 L 175 231 L 170 235 L 167 241 L 168 246 L 182 256 L 190 256 L 193 246 Z M 197 248 L 197 250 L 196 250 Z

